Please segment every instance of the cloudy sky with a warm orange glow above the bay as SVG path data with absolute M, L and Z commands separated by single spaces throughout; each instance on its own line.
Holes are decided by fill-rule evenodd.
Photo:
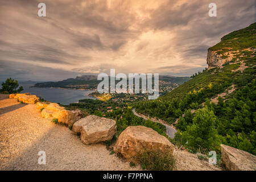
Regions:
M 46 17 L 38 4 L 46 4 Z M 210 17 L 209 3 L 217 16 Z M 77 75 L 191 76 L 207 49 L 255 22 L 254 0 L 0 0 L 0 80 Z

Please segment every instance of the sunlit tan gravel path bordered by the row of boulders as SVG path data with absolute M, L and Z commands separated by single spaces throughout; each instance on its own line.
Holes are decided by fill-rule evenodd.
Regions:
M 38 164 L 39 151 L 46 152 L 46 165 Z M 0 170 L 138 169 L 104 144 L 82 144 L 68 127 L 41 118 L 35 105 L 0 95 Z

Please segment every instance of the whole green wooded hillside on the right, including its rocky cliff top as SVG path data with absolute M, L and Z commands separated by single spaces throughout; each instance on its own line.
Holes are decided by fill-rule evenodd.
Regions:
M 173 123 L 174 142 L 192 152 L 220 144 L 256 155 L 256 23 L 208 49 L 209 68 L 159 100 L 134 104 L 139 113 Z

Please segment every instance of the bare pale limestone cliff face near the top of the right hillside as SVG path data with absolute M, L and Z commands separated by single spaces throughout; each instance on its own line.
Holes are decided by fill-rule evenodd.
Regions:
M 221 67 L 222 64 L 228 63 L 233 59 L 233 55 L 229 55 L 227 58 L 221 58 L 222 55 L 218 54 L 217 51 L 208 49 L 207 64 L 210 67 Z

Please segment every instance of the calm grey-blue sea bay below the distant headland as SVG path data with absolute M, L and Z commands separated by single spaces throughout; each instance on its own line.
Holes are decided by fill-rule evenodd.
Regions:
M 19 82 L 19 86 L 23 86 L 23 91 L 20 93 L 31 93 L 44 100 L 56 102 L 63 105 L 77 103 L 79 100 L 89 98 L 96 100 L 95 97 L 90 97 L 88 94 L 95 92 L 94 90 L 75 90 L 75 89 L 62 89 L 62 88 L 36 88 L 36 82 Z

